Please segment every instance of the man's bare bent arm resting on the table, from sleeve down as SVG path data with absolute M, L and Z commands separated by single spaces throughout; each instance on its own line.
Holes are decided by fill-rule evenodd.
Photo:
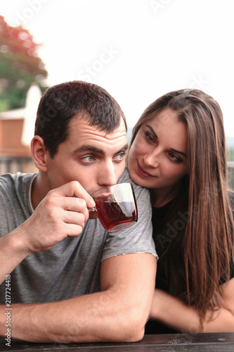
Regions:
M 56 303 L 12 305 L 11 337 L 60 343 L 138 341 L 150 312 L 155 270 L 156 259 L 148 253 L 105 259 L 98 293 Z M 4 320 L 1 309 L 2 336 Z

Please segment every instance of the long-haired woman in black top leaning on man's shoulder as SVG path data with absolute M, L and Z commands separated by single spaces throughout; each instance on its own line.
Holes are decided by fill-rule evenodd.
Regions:
M 160 257 L 145 333 L 234 332 L 234 196 L 219 104 L 197 89 L 154 101 L 134 127 L 128 166 L 150 189 Z

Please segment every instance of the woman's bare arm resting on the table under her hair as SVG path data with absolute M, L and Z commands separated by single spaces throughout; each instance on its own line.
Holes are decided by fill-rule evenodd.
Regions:
M 150 318 L 183 332 L 234 332 L 234 278 L 220 289 L 220 308 L 207 311 L 203 325 L 197 310 L 159 289 L 155 290 Z

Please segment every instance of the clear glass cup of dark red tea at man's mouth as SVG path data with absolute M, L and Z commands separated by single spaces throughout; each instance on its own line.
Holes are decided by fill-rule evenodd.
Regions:
M 134 187 L 131 183 L 118 183 L 91 194 L 100 223 L 109 232 L 123 230 L 136 224 L 138 212 Z

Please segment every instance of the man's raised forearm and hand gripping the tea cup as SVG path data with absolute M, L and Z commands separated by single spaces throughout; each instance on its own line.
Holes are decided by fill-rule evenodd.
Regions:
M 22 225 L 0 238 L 0 284 L 30 253 L 55 246 L 65 237 L 77 237 L 89 218 L 91 196 L 70 182 L 49 191 Z

